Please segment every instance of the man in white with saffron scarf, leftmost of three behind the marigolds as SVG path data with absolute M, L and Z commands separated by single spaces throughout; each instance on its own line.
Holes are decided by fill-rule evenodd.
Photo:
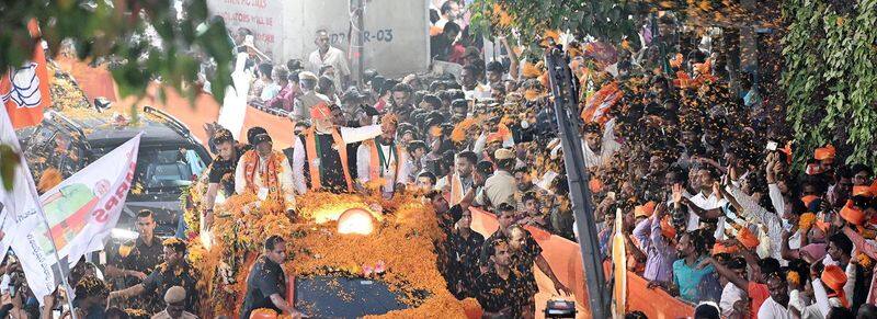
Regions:
M 295 210 L 295 184 L 293 169 L 283 152 L 272 149 L 267 134 L 253 137 L 255 148 L 243 153 L 235 168 L 235 192 L 251 192 L 259 200 L 283 201 L 286 210 Z

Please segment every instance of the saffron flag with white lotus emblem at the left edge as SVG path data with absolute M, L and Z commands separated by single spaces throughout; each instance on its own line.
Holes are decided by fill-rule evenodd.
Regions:
M 11 68 L 0 78 L 0 98 L 14 128 L 34 126 L 43 122 L 43 109 L 52 105 L 49 77 L 43 41 L 35 21 L 27 24 L 36 45 L 30 61 Z

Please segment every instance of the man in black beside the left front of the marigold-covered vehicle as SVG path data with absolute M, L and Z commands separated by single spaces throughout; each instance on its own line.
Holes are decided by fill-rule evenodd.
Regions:
M 240 318 L 249 319 L 250 314 L 260 308 L 300 318 L 301 312 L 286 303 L 286 274 L 282 266 L 286 261 L 286 242 L 275 235 L 265 240 L 264 249 L 265 252 L 255 261 L 247 276 L 247 293 Z

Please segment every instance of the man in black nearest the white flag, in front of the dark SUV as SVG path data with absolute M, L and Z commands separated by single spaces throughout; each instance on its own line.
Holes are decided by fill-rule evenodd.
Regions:
M 134 286 L 146 280 L 147 274 L 151 273 L 161 263 L 162 246 L 155 236 L 156 218 L 155 213 L 143 209 L 137 213 L 136 239 L 118 247 L 117 253 L 111 255 L 110 264 L 106 265 L 106 275 L 110 277 L 123 278 L 125 287 Z M 143 308 L 157 300 L 153 296 L 145 295 L 138 298 L 134 308 Z M 137 307 L 140 306 L 140 307 Z

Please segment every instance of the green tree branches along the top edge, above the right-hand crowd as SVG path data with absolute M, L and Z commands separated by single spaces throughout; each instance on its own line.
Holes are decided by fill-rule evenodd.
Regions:
M 687 25 L 762 25 L 771 20 L 764 12 L 776 11 L 775 1 L 758 1 L 745 10 L 731 0 L 475 0 L 470 11 L 476 31 L 509 34 L 513 29 L 529 52 L 538 53 L 539 37 L 548 30 L 611 44 L 628 39 L 637 49 L 639 31 L 658 11 L 671 11 Z

